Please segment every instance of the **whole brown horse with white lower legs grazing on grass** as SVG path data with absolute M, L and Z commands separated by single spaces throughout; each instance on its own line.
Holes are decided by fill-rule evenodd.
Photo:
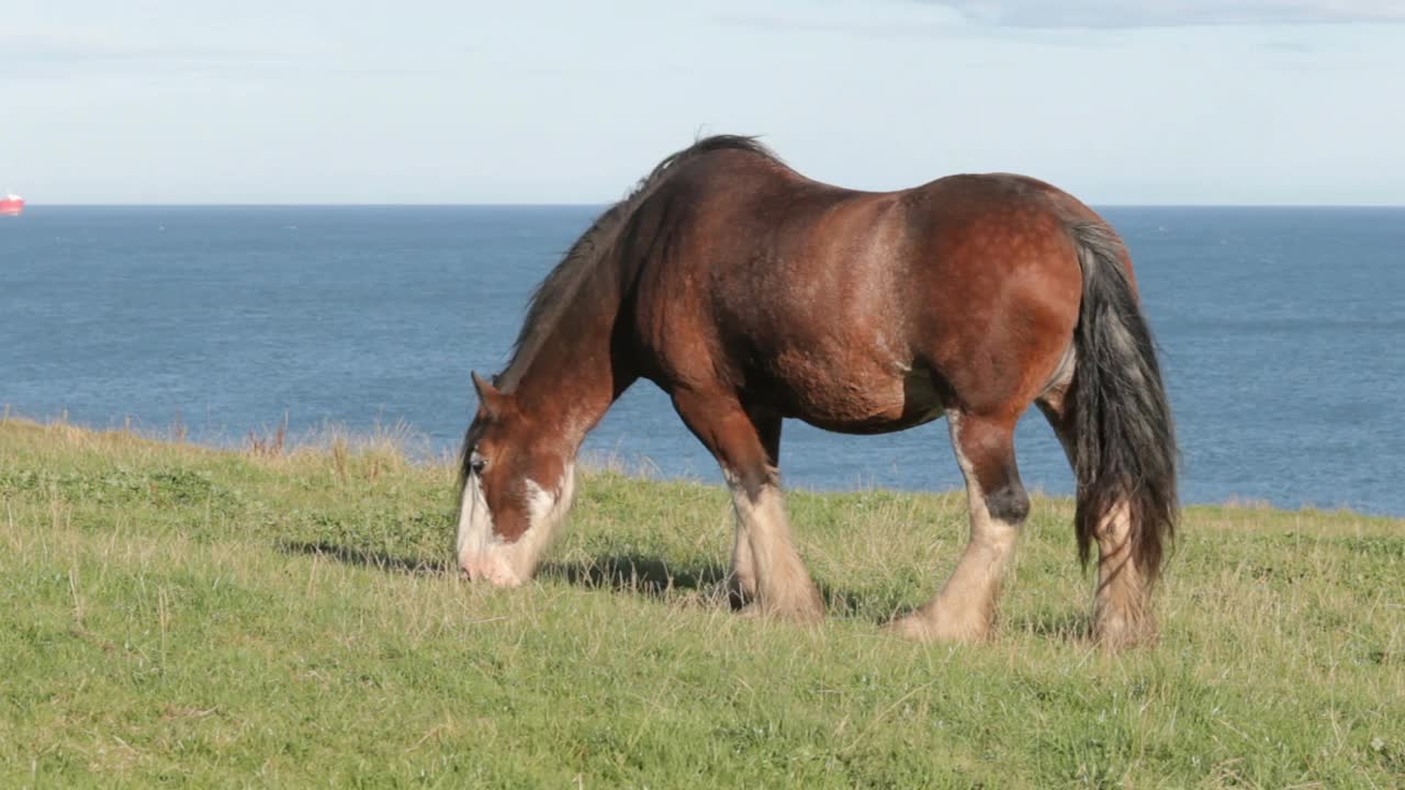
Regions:
M 1154 634 L 1173 533 L 1176 447 L 1131 260 L 1092 209 L 1043 181 L 951 176 L 895 193 L 812 181 L 749 138 L 665 159 L 538 287 L 507 368 L 473 375 L 458 561 L 517 585 L 570 506 L 586 433 L 636 380 L 663 388 L 736 507 L 733 600 L 798 620 L 823 603 L 781 503 L 781 420 L 884 433 L 947 417 L 971 536 L 892 628 L 978 640 L 1030 500 L 1016 420 L 1037 403 L 1097 545 L 1094 635 Z

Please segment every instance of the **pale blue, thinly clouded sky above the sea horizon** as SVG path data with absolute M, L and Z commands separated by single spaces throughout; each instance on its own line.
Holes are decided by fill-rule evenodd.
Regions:
M 1405 0 L 4 0 L 39 204 L 600 204 L 704 134 L 868 190 L 1405 205 Z

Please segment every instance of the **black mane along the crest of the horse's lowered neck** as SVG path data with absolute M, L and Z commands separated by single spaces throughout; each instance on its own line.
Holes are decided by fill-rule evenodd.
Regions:
M 582 284 L 589 280 L 596 267 L 614 257 L 606 253 L 614 246 L 620 231 L 625 226 L 634 211 L 648 198 L 680 164 L 714 150 L 745 150 L 763 156 L 773 162 L 780 162 L 769 148 L 756 138 L 736 135 L 715 135 L 702 138 L 688 148 L 666 157 L 648 176 L 639 180 L 628 197 L 607 208 L 590 228 L 570 245 L 570 250 L 561 259 L 556 268 L 551 270 L 537 290 L 532 291 L 527 306 L 527 318 L 513 343 L 513 357 L 507 367 L 495 378 L 495 385 L 503 391 L 511 391 L 541 349 L 542 342 L 556 326 L 562 313 L 580 294 Z

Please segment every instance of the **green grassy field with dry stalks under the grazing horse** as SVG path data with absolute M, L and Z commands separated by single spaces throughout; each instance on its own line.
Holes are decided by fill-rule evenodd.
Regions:
M 714 486 L 594 472 L 538 581 L 450 562 L 452 471 L 0 422 L 0 786 L 1402 787 L 1405 523 L 1190 507 L 1154 648 L 1086 641 L 1040 499 L 999 635 L 880 634 L 962 498 L 792 493 L 830 619 L 732 616 Z

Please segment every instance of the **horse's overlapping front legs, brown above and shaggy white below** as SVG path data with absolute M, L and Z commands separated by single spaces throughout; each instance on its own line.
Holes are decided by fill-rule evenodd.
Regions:
M 750 600 L 749 606 L 762 614 L 821 620 L 825 604 L 791 543 L 774 465 L 780 417 L 747 413 L 735 398 L 717 394 L 676 392 L 673 405 L 717 458 L 732 492 L 733 600 Z

